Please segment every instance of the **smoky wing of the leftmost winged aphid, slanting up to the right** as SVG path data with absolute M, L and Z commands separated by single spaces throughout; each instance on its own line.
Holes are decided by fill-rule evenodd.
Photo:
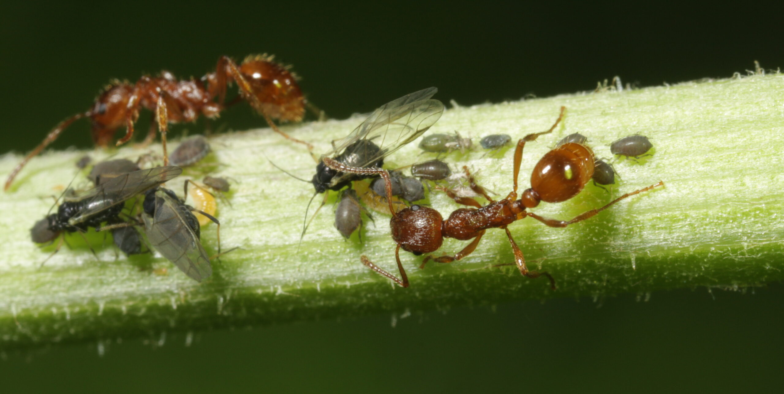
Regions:
M 107 210 L 112 206 L 121 204 L 134 195 L 147 192 L 166 181 L 183 173 L 183 169 L 177 166 L 154 167 L 147 170 L 133 171 L 119 177 L 112 178 L 95 188 L 85 192 L 69 196 L 68 201 L 84 201 L 85 208 L 79 211 L 78 215 L 71 217 L 69 224 L 82 223 L 89 217 Z

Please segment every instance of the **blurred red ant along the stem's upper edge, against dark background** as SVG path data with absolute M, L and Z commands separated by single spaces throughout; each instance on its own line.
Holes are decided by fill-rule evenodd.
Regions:
M 101 148 L 106 148 L 114 137 L 114 132 L 125 125 L 125 136 L 117 141 L 117 145 L 125 144 L 133 136 L 133 125 L 139 118 L 140 108 L 154 112 L 155 116 L 155 122 L 151 123 L 142 145 L 150 144 L 154 140 L 154 126 L 157 123 L 161 132 L 164 166 L 168 166 L 166 132 L 169 130 L 169 123 L 195 122 L 199 115 L 208 119 L 217 118 L 220 111 L 227 108 L 223 100 L 226 97 L 226 86 L 231 82 L 236 82 L 239 86 L 238 99 L 248 101 L 252 108 L 267 120 L 272 130 L 289 140 L 305 144 L 312 150 L 312 145 L 289 137 L 273 122 L 273 119 L 281 122 L 302 120 L 305 106 L 309 104 L 296 79 L 289 67 L 274 62 L 273 57 L 257 55 L 246 57 L 239 66 L 230 57 L 220 57 L 216 71 L 201 79 L 178 80 L 171 72 L 161 71 L 156 77 L 144 75 L 135 84 L 113 81 L 98 95 L 93 108 L 65 119 L 49 132 L 42 143 L 11 171 L 5 181 L 4 190 L 8 191 L 16 173 L 19 173 L 30 159 L 41 153 L 78 119 L 90 119 L 93 124 L 93 143 Z M 209 85 L 205 86 L 205 82 Z M 238 99 L 230 104 L 234 104 Z M 309 108 L 317 111 L 310 105 Z

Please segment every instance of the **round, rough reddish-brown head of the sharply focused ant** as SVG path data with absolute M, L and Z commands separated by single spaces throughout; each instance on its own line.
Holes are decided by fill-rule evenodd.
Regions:
M 426 206 L 412 205 L 397 211 L 390 220 L 392 238 L 403 250 L 426 254 L 441 247 L 441 213 Z

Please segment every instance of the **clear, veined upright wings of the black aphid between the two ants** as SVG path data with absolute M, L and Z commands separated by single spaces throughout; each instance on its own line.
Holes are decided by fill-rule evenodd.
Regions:
M 380 150 L 374 155 L 365 155 L 365 162 L 359 166 L 367 166 L 416 140 L 430 129 L 444 112 L 441 101 L 430 99 L 437 91 L 438 89 L 433 87 L 422 89 L 384 104 L 325 156 L 334 158 L 358 140 L 372 140 Z M 343 177 L 335 177 L 332 184 L 339 183 Z

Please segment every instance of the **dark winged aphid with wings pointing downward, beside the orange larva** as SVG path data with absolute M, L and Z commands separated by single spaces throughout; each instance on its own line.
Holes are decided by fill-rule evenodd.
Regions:
M 188 181 L 185 181 L 185 195 L 187 195 L 187 184 Z M 192 211 L 201 213 L 218 225 L 219 255 L 220 221 L 209 213 L 187 206 L 174 192 L 166 188 L 154 188 L 148 191 L 144 195 L 143 206 L 144 230 L 155 250 L 197 282 L 212 275 L 209 256 L 199 240 L 201 227 Z

